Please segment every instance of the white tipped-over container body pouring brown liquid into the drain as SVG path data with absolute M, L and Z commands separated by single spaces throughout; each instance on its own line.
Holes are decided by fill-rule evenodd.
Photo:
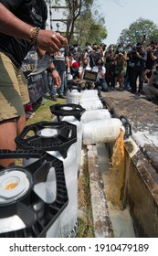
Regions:
M 111 118 L 83 123 L 83 144 L 114 142 L 121 132 L 120 119 Z

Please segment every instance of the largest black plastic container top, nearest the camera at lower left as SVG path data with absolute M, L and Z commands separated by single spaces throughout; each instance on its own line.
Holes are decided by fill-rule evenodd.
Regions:
M 18 198 L 10 204 L 0 204 L 0 218 L 8 218 L 17 215 L 25 223 L 25 229 L 19 229 L 1 233 L 1 238 L 40 238 L 45 237 L 47 229 L 58 219 L 58 216 L 68 205 L 68 191 L 66 187 L 62 161 L 48 155 L 43 151 L 0 151 L 0 159 L 9 158 L 36 158 L 36 162 L 26 165 L 24 168 L 32 176 L 32 184 L 26 195 Z M 15 166 L 13 166 L 15 167 Z M 47 173 L 51 167 L 55 168 L 57 181 L 57 197 L 52 204 L 44 202 L 34 192 L 34 186 L 47 179 Z M 0 172 L 4 171 L 0 165 Z M 10 167 L 9 167 L 10 169 Z M 39 208 L 41 211 L 39 211 Z

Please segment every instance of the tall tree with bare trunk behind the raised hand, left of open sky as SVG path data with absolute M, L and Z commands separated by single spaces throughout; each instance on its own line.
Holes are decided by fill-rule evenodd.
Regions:
M 61 5 L 59 0 L 45 0 L 51 6 Z M 104 18 L 96 12 L 92 13 L 92 5 L 95 0 L 65 0 L 65 11 L 63 20 L 66 25 L 66 37 L 68 43 L 78 41 L 79 44 L 85 42 L 99 42 L 107 37 L 107 30 L 104 26 Z M 63 4 L 63 3 L 62 3 Z

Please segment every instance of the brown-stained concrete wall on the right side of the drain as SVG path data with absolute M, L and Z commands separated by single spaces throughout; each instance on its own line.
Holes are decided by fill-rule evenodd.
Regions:
M 128 162 L 127 199 L 138 237 L 158 237 L 158 176 L 138 150 Z M 128 157 L 128 160 L 127 160 Z

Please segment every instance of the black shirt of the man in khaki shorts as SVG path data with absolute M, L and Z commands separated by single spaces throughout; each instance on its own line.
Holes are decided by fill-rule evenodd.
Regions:
M 15 16 L 33 27 L 45 29 L 47 5 L 44 0 L 0 0 Z M 0 33 L 0 51 L 8 56 L 17 68 L 33 47 L 28 41 Z

